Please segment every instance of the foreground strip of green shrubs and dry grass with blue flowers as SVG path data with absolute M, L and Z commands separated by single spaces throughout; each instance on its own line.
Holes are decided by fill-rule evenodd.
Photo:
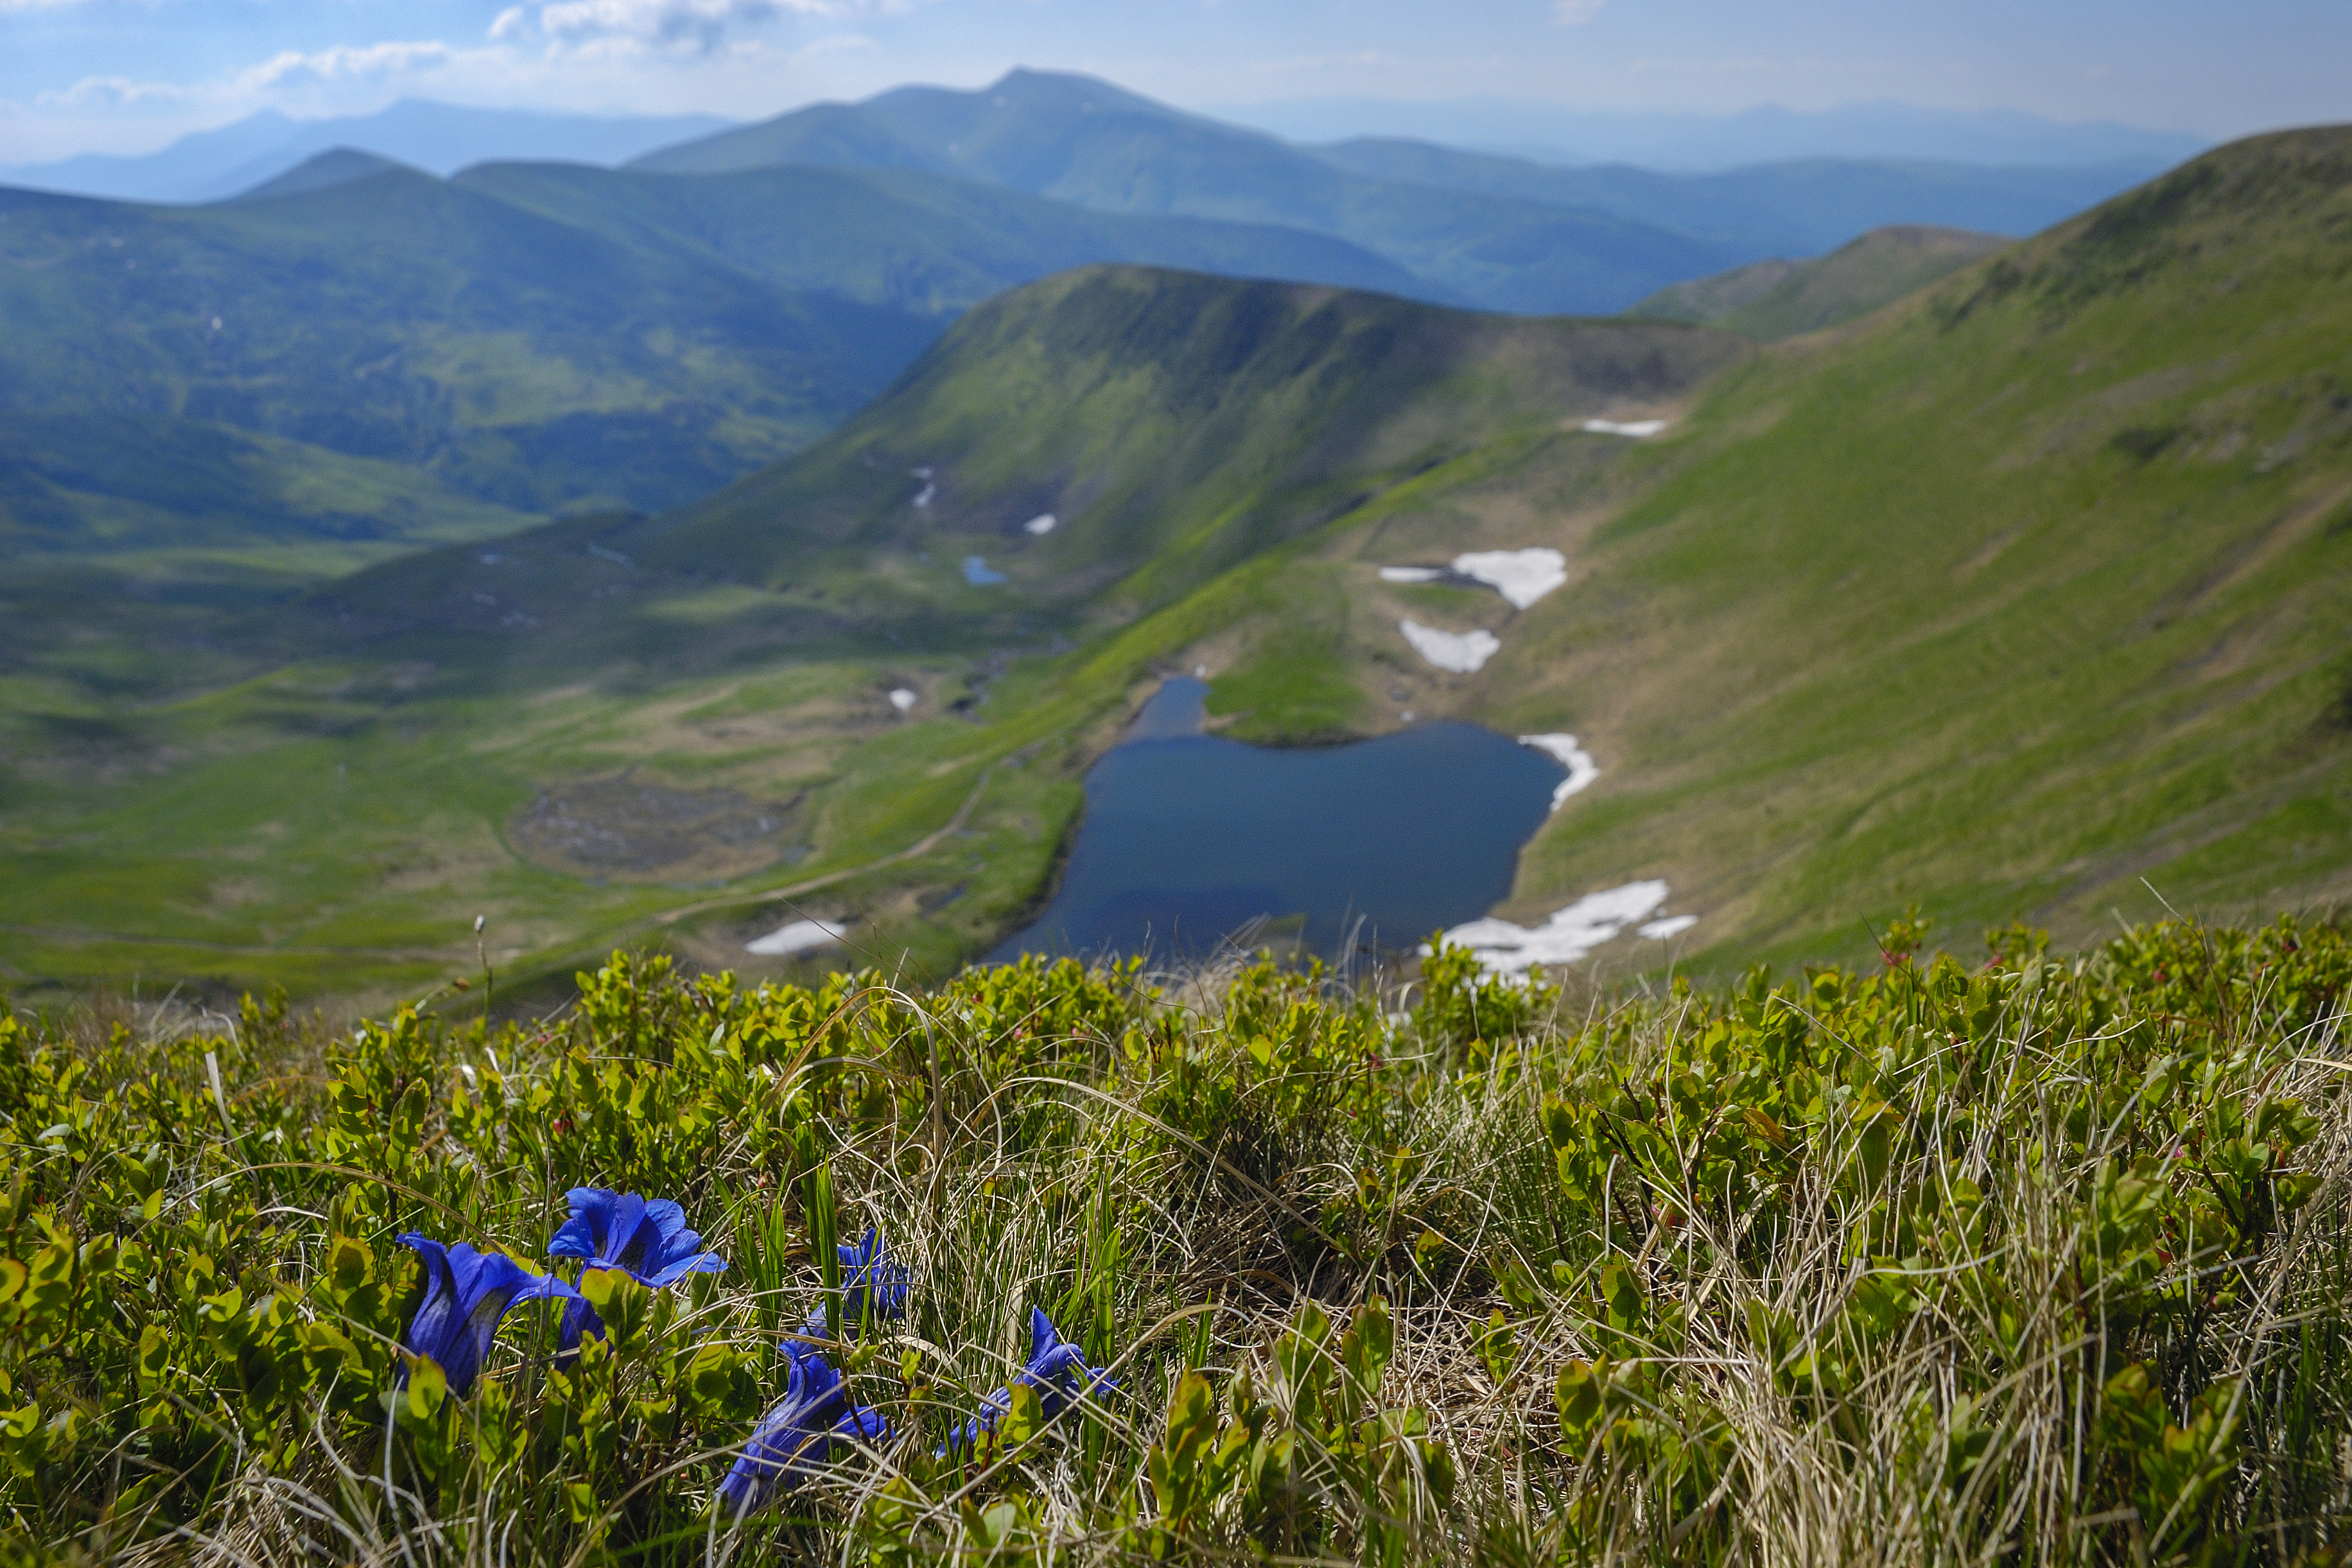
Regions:
M 2347 980 L 2279 919 L 1722 994 L 616 957 L 536 1025 L 0 1011 L 5 1542 L 2338 1561 Z

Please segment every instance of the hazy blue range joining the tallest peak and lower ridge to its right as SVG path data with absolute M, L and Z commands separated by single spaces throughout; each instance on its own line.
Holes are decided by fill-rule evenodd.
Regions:
M 978 92 L 898 87 L 800 108 L 633 167 L 776 165 L 927 169 L 1101 212 L 1287 223 L 1388 256 L 1425 299 L 1611 313 L 1672 282 L 1818 254 L 1884 223 L 2032 233 L 2147 179 L 2161 160 L 2089 169 L 1813 160 L 1715 176 L 1562 169 L 1406 141 L 1294 146 L 1091 78 L 1014 71 Z

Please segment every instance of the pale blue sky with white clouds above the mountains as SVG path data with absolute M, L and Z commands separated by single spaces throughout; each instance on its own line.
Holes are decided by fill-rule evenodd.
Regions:
M 1204 110 L 1903 101 L 2232 136 L 2352 118 L 2328 0 L 0 0 L 0 162 L 395 96 L 771 115 L 1009 66 Z

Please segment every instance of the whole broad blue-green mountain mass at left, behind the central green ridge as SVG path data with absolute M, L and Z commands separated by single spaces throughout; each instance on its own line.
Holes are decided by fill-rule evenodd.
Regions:
M 863 404 L 941 317 L 1075 263 L 1411 284 L 1296 228 L 906 172 L 372 162 L 202 209 L 0 195 L 0 668 L 176 689 L 226 668 L 212 611 L 708 494 Z

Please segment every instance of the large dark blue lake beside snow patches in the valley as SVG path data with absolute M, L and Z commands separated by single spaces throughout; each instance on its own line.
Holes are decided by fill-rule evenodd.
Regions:
M 1566 771 L 1477 724 L 1268 750 L 1200 733 L 1207 686 L 1171 679 L 1087 773 L 1087 816 L 1021 952 L 1183 957 L 1258 917 L 1305 917 L 1334 954 L 1350 931 L 1402 947 L 1510 893 L 1519 846 Z

